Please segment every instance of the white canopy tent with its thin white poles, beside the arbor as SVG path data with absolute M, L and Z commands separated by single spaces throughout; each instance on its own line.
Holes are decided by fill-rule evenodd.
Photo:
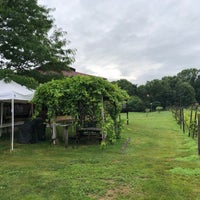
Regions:
M 25 86 L 22 86 L 14 81 L 5 82 L 0 80 L 0 101 L 1 101 L 1 124 L 3 125 L 3 102 L 11 101 L 11 113 L 12 113 L 12 135 L 11 135 L 11 150 L 14 146 L 14 102 L 27 102 L 33 98 L 34 90 L 30 90 Z

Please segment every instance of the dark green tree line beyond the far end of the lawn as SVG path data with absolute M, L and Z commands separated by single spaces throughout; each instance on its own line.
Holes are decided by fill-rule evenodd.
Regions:
M 115 81 L 130 95 L 127 102 L 129 111 L 144 111 L 146 108 L 155 110 L 172 106 L 187 107 L 200 103 L 200 70 L 188 68 L 175 76 L 147 81 L 137 86 L 126 79 Z

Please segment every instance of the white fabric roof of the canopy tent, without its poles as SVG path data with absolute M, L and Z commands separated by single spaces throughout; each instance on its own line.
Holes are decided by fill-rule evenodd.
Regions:
M 29 101 L 34 95 L 34 90 L 30 90 L 14 81 L 5 82 L 0 80 L 0 88 L 0 101 L 10 99 Z

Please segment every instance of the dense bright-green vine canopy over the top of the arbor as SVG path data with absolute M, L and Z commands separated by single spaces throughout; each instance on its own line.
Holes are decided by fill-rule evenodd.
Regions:
M 33 103 L 37 106 L 36 112 L 41 112 L 42 106 L 47 107 L 48 118 L 55 115 L 69 114 L 77 117 L 80 114 L 80 107 L 85 109 L 85 114 L 89 115 L 101 113 L 102 99 L 115 105 L 116 116 L 121 109 L 124 99 L 128 98 L 125 91 L 118 86 L 97 77 L 76 76 L 62 80 L 52 80 L 41 84 L 33 98 Z

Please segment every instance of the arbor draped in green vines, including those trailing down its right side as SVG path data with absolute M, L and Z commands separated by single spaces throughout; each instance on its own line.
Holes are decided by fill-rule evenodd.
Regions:
M 93 76 L 53 80 L 38 87 L 33 98 L 35 115 L 47 108 L 47 118 L 68 115 L 78 128 L 98 126 L 109 140 L 119 136 L 118 116 L 128 95 L 117 85 Z M 53 136 L 55 137 L 55 136 Z

